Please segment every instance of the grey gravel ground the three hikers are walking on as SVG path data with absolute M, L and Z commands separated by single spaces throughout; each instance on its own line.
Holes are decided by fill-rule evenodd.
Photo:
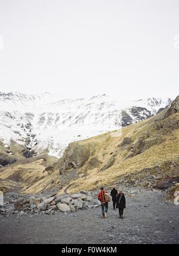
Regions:
M 0 217 L 0 243 L 179 243 L 179 206 L 159 191 L 126 197 L 124 219 L 101 208 L 56 215 Z

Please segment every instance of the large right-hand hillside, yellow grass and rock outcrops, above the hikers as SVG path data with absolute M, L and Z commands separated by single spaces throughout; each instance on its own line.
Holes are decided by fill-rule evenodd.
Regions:
M 178 97 L 169 110 L 87 140 L 70 143 L 55 166 L 63 189 L 122 183 L 168 188 L 179 182 Z

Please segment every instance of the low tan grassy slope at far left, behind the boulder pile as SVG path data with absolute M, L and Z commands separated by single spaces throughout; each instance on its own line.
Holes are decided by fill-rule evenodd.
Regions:
M 36 193 L 52 189 L 58 185 L 58 170 L 47 171 L 46 167 L 57 158 L 48 155 L 20 159 L 14 164 L 0 169 L 0 189 Z

